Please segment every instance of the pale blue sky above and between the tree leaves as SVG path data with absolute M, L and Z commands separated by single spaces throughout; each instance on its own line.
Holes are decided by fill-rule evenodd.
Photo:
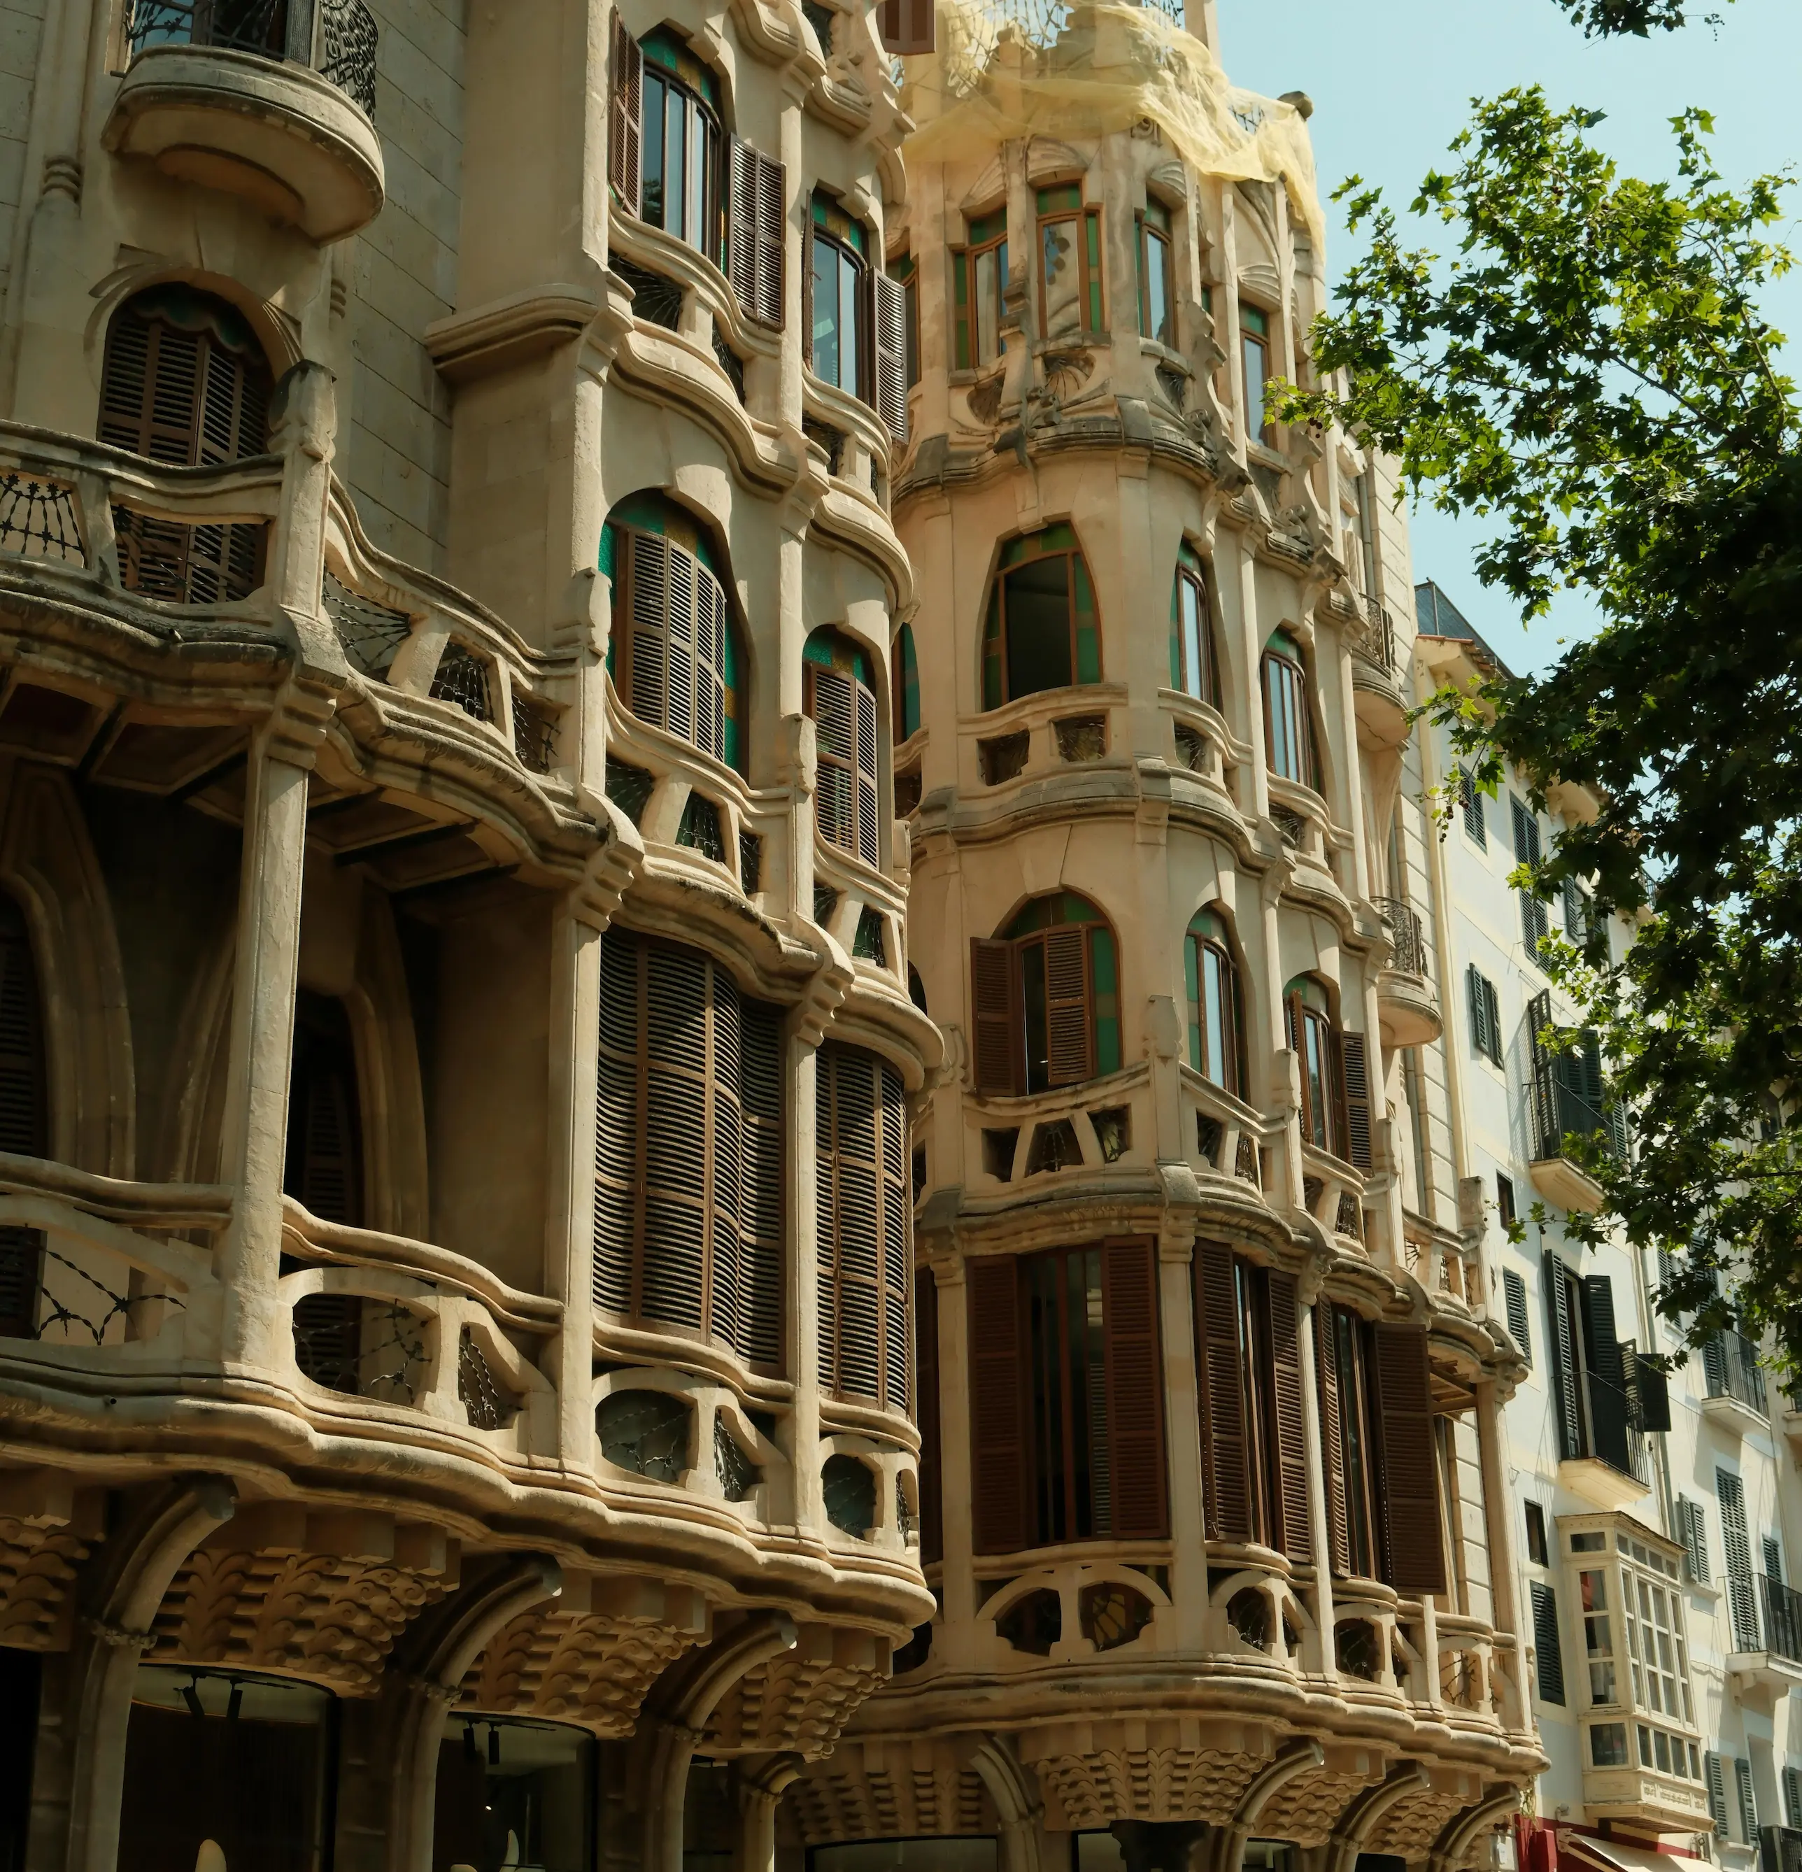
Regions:
M 1802 73 L 1802 0 L 1703 0 L 1701 11 L 1718 11 L 1720 26 L 1607 41 L 1585 39 L 1555 0 L 1218 0 L 1218 7 L 1220 56 L 1235 84 L 1314 99 L 1323 195 L 1360 174 L 1405 208 L 1467 122 L 1471 97 L 1514 84 L 1544 84 L 1555 105 L 1606 110 L 1596 140 L 1635 174 L 1673 174 L 1669 120 L 1688 105 L 1714 112 L 1716 167 L 1727 182 L 1802 157 L 1802 112 L 1785 95 Z M 1802 217 L 1802 189 L 1793 212 Z M 1329 204 L 1332 277 L 1351 253 L 1340 215 Z M 1437 223 L 1422 236 L 1445 245 Z M 1785 240 L 1802 247 L 1802 221 Z M 1768 314 L 1791 335 L 1795 374 L 1802 268 L 1774 288 Z M 1415 577 L 1435 578 L 1512 668 L 1542 668 L 1557 655 L 1557 638 L 1579 635 L 1592 612 L 1570 595 L 1523 631 L 1514 607 L 1476 582 L 1480 539 L 1478 522 L 1417 513 Z

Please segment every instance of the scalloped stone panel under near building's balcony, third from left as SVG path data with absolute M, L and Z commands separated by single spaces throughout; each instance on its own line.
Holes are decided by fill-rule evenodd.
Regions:
M 657 1677 L 705 1636 L 707 1602 L 692 1587 L 565 1578 L 558 1599 L 496 1632 L 455 1707 L 631 1735 Z

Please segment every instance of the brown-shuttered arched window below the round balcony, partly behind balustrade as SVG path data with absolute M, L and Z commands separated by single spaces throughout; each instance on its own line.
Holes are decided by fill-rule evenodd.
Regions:
M 107 328 L 99 438 L 193 468 L 269 446 L 269 363 L 243 313 L 193 286 L 152 286 Z M 174 605 L 247 597 L 262 584 L 260 520 L 185 526 L 114 507 L 127 592 Z

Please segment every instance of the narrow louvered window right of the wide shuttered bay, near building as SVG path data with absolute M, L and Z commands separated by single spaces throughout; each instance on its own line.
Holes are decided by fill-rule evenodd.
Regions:
M 900 1075 L 861 1046 L 816 1056 L 820 1383 L 908 1410 L 913 1202 Z

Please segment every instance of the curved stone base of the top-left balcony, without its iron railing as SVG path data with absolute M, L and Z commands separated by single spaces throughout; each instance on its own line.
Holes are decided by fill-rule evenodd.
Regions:
M 264 52 L 144 45 L 103 142 L 176 182 L 236 195 L 320 245 L 382 212 L 382 144 L 367 112 L 322 73 Z

